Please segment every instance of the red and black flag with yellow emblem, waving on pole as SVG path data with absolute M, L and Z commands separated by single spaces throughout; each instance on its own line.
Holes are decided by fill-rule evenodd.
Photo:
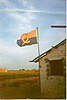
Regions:
M 37 30 L 33 30 L 29 33 L 24 33 L 17 40 L 17 44 L 22 47 L 25 45 L 37 44 Z

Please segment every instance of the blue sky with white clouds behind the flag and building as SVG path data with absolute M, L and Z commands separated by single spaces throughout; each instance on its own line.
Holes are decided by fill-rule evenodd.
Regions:
M 23 33 L 38 27 L 40 54 L 65 39 L 66 0 L 0 0 L 0 67 L 9 70 L 38 69 L 29 62 L 38 56 L 38 45 L 19 47 Z

